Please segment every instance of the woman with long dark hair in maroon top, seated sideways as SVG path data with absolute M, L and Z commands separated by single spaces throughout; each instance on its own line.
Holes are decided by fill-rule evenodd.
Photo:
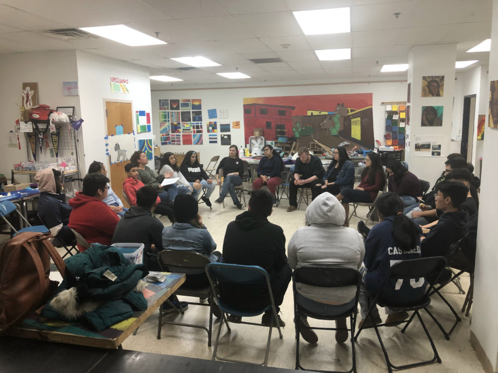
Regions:
M 378 191 L 385 186 L 384 169 L 377 153 L 369 153 L 365 158 L 365 168 L 361 175 L 362 181 L 358 187 L 343 188 L 337 199 L 346 210 L 346 226 L 349 226 L 349 203 L 365 202 L 372 203 L 377 197 Z

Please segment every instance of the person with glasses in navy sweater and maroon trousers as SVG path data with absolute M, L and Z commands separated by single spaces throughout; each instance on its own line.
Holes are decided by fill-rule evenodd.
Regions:
M 285 168 L 282 158 L 271 145 L 263 147 L 263 155 L 257 166 L 257 179 L 252 182 L 252 190 L 267 186 L 273 195 L 273 203 L 277 202 L 275 190 L 282 182 L 282 171 Z

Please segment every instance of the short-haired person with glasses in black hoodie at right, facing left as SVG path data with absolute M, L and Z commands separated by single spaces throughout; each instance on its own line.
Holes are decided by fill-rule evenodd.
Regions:
M 444 181 L 438 184 L 434 197 L 436 209 L 443 213 L 431 230 L 422 236 L 422 257 L 444 256 L 450 245 L 462 238 L 468 230 L 469 213 L 459 210 L 467 199 L 469 188 L 460 182 Z

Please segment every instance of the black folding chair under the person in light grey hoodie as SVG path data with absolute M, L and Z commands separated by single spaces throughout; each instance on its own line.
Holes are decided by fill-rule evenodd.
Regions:
M 318 287 L 334 288 L 343 286 L 356 286 L 355 305 L 346 312 L 336 316 L 322 316 L 308 311 L 302 307 L 297 301 L 296 284 L 305 284 Z M 352 268 L 344 268 L 338 266 L 304 266 L 294 271 L 292 274 L 292 289 L 294 292 L 294 324 L 296 328 L 296 368 L 303 371 L 314 372 L 330 372 L 330 373 L 351 373 L 356 372 L 356 352 L 353 336 L 355 335 L 356 317 L 358 312 L 358 294 L 360 292 L 360 285 L 362 283 L 362 276 L 360 272 Z M 351 332 L 351 351 L 353 359 L 353 367 L 346 372 L 338 371 L 318 371 L 316 369 L 303 368 L 299 363 L 299 336 L 300 336 L 300 317 L 307 316 L 318 320 L 338 320 L 341 318 L 350 318 L 350 328 L 347 329 Z M 309 329 L 315 330 L 338 330 L 338 328 L 318 328 L 310 327 Z

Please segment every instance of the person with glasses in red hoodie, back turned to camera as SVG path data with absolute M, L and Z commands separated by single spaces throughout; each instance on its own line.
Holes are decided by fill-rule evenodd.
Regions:
M 102 174 L 88 174 L 83 179 L 83 191 L 69 200 L 73 208 L 69 227 L 80 233 L 88 243 L 111 245 L 120 217 L 102 200 L 107 197 L 109 179 Z M 78 245 L 80 251 L 84 248 Z

